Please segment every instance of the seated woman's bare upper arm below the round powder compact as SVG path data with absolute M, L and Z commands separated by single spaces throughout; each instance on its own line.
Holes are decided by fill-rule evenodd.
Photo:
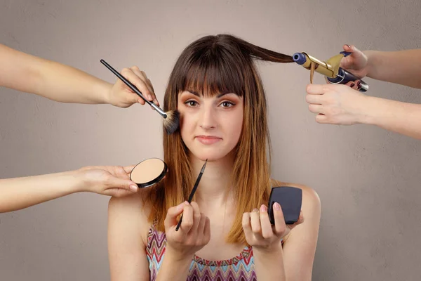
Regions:
M 147 228 L 141 195 L 109 200 L 108 256 L 111 281 L 149 280 Z

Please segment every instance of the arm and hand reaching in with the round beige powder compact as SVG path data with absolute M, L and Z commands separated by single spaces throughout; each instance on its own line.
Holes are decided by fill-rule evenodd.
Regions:
M 133 166 L 88 166 L 41 176 L 0 179 L 0 213 L 16 211 L 74 192 L 123 196 L 138 190 L 129 179 Z

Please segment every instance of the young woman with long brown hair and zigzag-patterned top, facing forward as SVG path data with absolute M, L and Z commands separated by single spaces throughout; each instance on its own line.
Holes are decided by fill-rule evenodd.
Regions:
M 168 174 L 109 202 L 112 280 L 312 279 L 319 197 L 270 178 L 267 103 L 255 59 L 293 61 L 229 34 L 194 41 L 178 58 L 164 98 L 164 110 L 180 112 L 180 130 L 163 137 Z M 293 226 L 279 204 L 275 225 L 269 222 L 266 204 L 279 185 L 302 189 Z

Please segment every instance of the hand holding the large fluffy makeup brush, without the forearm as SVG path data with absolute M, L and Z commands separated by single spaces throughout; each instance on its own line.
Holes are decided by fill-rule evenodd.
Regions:
M 135 85 L 147 100 L 152 101 L 159 106 L 151 81 L 147 78 L 145 72 L 139 70 L 139 67 L 133 66 L 124 68 L 121 70 L 121 75 L 128 79 L 131 84 Z M 117 78 L 116 84 L 114 84 L 111 91 L 109 91 L 108 103 L 126 108 L 133 105 L 133 103 L 145 105 L 145 100 L 140 98 L 137 93 L 133 92 L 123 81 Z

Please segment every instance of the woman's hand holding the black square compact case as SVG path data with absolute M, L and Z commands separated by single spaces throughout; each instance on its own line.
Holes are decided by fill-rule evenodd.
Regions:
M 283 219 L 281 205 L 274 203 L 274 226 L 269 221 L 267 207 L 262 205 L 260 210 L 254 209 L 243 214 L 243 230 L 246 241 L 253 249 L 270 251 L 281 246 L 281 239 L 290 233 L 290 230 L 304 221 L 302 212 L 298 221 L 293 225 L 286 225 Z

